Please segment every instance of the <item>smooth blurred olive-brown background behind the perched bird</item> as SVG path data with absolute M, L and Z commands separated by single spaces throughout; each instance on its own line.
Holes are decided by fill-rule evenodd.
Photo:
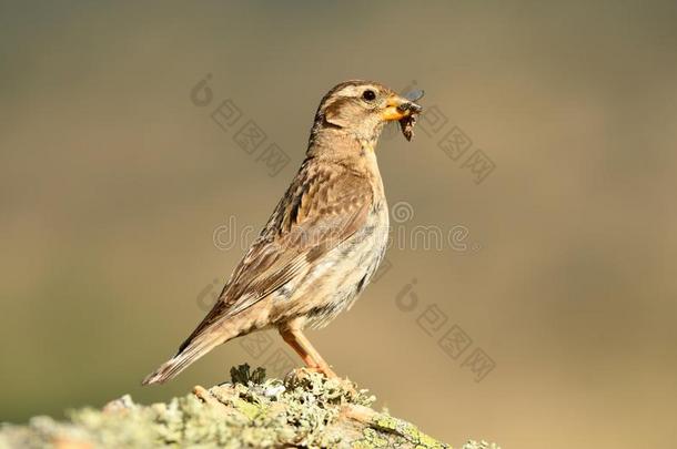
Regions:
M 310 333 L 335 370 L 454 446 L 674 445 L 675 23 L 669 1 L 2 2 L 0 420 L 300 365 L 270 333 L 140 387 L 267 220 L 320 99 L 361 78 L 426 91 L 414 140 L 377 154 L 393 232 L 444 242 L 394 244 Z

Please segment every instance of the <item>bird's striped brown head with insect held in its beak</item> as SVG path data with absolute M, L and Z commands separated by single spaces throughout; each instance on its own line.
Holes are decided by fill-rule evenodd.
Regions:
M 336 130 L 375 143 L 383 126 L 397 121 L 408 140 L 415 118 L 423 110 L 415 103 L 423 96 L 423 92 L 413 92 L 406 96 L 408 98 L 401 96 L 376 82 L 343 82 L 322 99 L 315 114 L 313 135 L 323 130 Z

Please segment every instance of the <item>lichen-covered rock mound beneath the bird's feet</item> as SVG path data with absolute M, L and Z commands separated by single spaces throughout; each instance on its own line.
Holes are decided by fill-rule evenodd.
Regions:
M 371 409 L 375 398 L 346 380 L 306 370 L 265 379 L 261 368 L 249 366 L 233 368 L 231 377 L 230 384 L 195 387 L 166 404 L 141 406 L 124 396 L 103 410 L 75 410 L 65 422 L 37 417 L 27 426 L 2 425 L 0 448 L 447 447 L 407 421 Z M 485 447 L 467 446 L 479 448 Z

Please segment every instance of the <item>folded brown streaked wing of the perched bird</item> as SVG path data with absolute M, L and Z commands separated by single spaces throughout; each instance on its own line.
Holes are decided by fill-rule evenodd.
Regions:
M 182 345 L 253 306 L 344 242 L 366 222 L 368 178 L 341 166 L 304 164 L 219 300 Z

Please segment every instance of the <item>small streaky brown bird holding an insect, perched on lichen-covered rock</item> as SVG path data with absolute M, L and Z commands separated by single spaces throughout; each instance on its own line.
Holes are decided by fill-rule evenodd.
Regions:
M 143 385 L 164 382 L 215 346 L 275 327 L 305 365 L 336 375 L 303 335 L 350 308 L 385 253 L 388 210 L 374 147 L 387 122 L 407 140 L 422 91 L 403 98 L 346 81 L 320 103 L 305 160 L 219 300 L 174 357 Z

